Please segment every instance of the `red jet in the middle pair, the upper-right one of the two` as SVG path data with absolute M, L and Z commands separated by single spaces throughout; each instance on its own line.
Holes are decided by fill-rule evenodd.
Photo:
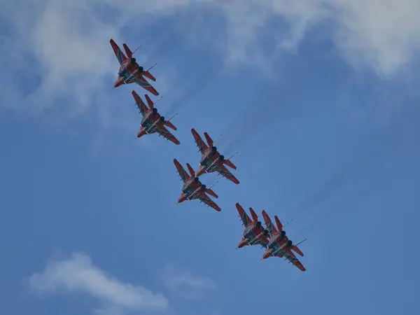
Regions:
M 225 159 L 223 155 L 218 153 L 216 146 L 214 146 L 214 141 L 210 138 L 209 134 L 204 132 L 204 137 L 207 140 L 206 144 L 194 128 L 191 130 L 191 133 L 193 134 L 197 148 L 202 154 L 197 176 L 204 173 L 218 172 L 218 174 L 221 174 L 226 179 L 239 184 L 237 178 L 233 176 L 225 165 L 231 167 L 232 169 L 237 169 L 237 167 L 229 159 Z

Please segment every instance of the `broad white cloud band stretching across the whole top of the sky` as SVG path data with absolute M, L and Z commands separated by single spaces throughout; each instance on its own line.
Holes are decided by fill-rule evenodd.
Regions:
M 245 66 L 279 52 L 262 48 L 262 37 L 276 41 L 277 49 L 294 50 L 307 30 L 320 22 L 334 23 L 330 35 L 346 60 L 362 69 L 371 66 L 379 75 L 392 75 L 420 48 L 418 0 L 126 0 L 124 5 L 118 0 L 0 0 L 0 4 L 0 17 L 9 27 L 1 36 L 0 59 L 6 73 L 0 79 L 2 106 L 41 112 L 69 106 L 72 117 L 92 104 L 103 111 L 109 106 L 99 105 L 99 94 L 113 83 L 106 78 L 115 78 L 118 69 L 109 38 L 121 43 L 127 39 L 123 27 L 137 29 L 164 15 L 188 14 L 177 20 L 186 31 L 184 37 L 193 33 L 191 38 L 205 41 L 209 49 L 223 47 L 230 61 Z M 226 23 L 209 25 L 201 14 L 218 14 Z M 286 21 L 288 29 L 273 27 L 269 24 L 273 19 Z M 197 27 L 200 23 L 202 27 Z M 161 87 L 165 75 L 155 74 L 162 74 L 155 83 Z

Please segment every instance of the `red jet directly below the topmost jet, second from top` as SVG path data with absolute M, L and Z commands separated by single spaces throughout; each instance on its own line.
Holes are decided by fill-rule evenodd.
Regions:
M 160 116 L 158 113 L 158 109 L 155 108 L 152 100 L 148 97 L 147 94 L 144 94 L 146 97 L 147 104 L 144 104 L 143 99 L 139 97 L 139 94 L 136 91 L 132 91 L 134 100 L 136 101 L 137 107 L 141 113 L 141 123 L 140 123 L 140 130 L 137 132 L 137 139 L 143 137 L 145 134 L 154 134 L 158 133 L 159 136 L 166 138 L 169 141 L 174 142 L 174 144 L 180 144 L 179 140 L 167 130 L 167 127 L 171 128 L 172 130 L 176 130 L 174 124 L 171 123 L 171 119 L 165 120 L 164 116 Z M 167 126 L 167 127 L 165 127 Z

